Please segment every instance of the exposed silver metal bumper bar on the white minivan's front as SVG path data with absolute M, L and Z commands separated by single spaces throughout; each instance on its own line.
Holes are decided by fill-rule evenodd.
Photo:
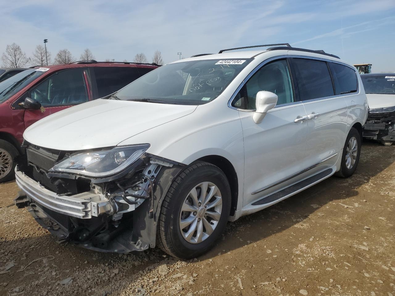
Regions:
M 73 196 L 59 196 L 20 171 L 15 171 L 15 180 L 29 199 L 60 214 L 90 219 L 113 212 L 110 202 L 100 194 L 83 192 Z

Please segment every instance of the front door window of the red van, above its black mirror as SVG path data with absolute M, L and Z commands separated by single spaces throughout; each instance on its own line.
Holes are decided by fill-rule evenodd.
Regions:
M 51 75 L 29 91 L 43 106 L 76 105 L 88 101 L 86 69 L 68 69 Z

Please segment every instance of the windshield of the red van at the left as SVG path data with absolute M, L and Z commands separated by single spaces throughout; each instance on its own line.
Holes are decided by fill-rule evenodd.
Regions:
M 48 68 L 39 68 L 39 69 L 48 69 Z M 34 81 L 34 79 L 41 76 L 43 73 L 45 73 L 45 71 L 47 71 L 47 70 L 39 70 L 39 69 L 25 70 L 0 82 L 0 103 L 3 103 L 4 101 L 8 100 L 11 96 L 19 92 L 30 82 Z

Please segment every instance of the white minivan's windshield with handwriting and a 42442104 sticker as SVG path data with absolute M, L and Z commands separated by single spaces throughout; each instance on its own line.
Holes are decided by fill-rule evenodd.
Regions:
M 130 101 L 202 105 L 218 97 L 251 60 L 197 60 L 168 64 L 128 84 L 114 97 Z

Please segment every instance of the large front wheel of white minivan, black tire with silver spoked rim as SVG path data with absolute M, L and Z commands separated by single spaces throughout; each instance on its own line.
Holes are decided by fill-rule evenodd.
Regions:
M 206 183 L 208 187 L 205 187 Z M 213 193 L 213 197 L 206 200 L 207 208 L 204 206 L 205 202 L 198 204 L 198 201 L 203 200 L 200 199 L 202 197 L 200 193 L 204 192 L 201 188 L 208 188 L 206 198 Z M 216 189 L 218 190 L 215 191 Z M 193 199 L 193 196 L 196 198 Z M 222 206 L 219 200 L 222 200 Z M 194 204 L 198 205 L 194 207 Z M 190 165 L 175 178 L 164 198 L 157 231 L 159 247 L 179 259 L 191 259 L 203 255 L 213 247 L 224 231 L 230 206 L 230 186 L 224 172 L 207 162 Z M 192 210 L 194 208 L 196 211 Z M 220 212 L 219 216 L 218 212 Z M 216 219 L 213 218 L 214 216 Z M 185 222 L 192 220 L 190 224 Z M 181 221 L 182 226 L 186 223 L 184 229 L 180 227 Z

